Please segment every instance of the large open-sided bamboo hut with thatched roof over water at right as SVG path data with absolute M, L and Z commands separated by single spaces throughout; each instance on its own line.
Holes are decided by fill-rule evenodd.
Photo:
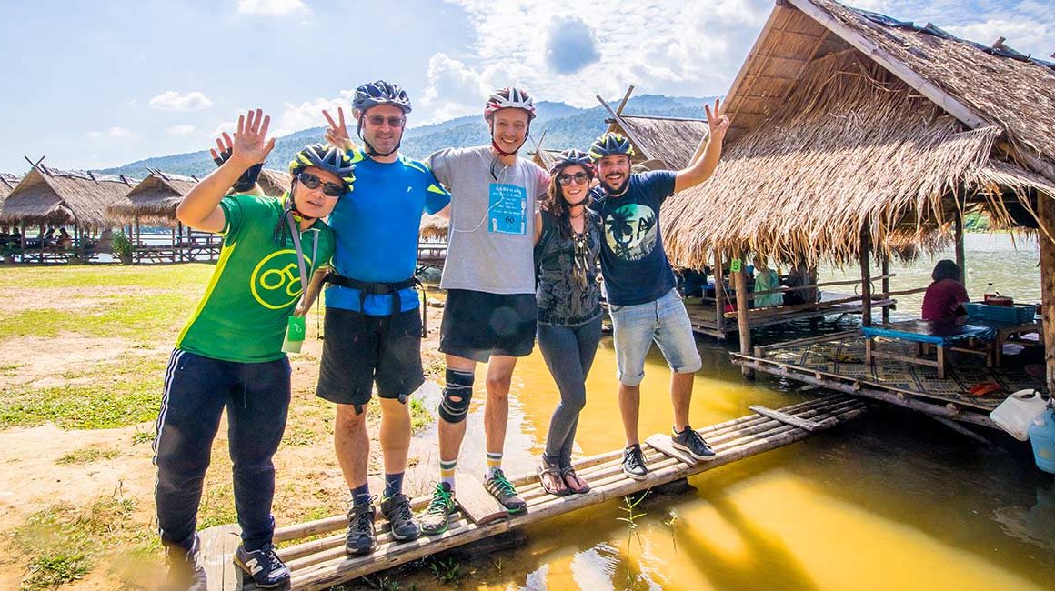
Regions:
M 898 294 L 889 285 L 891 256 L 955 243 L 962 269 L 963 216 L 984 211 L 998 227 L 1038 234 L 1048 354 L 1047 379 L 1034 385 L 1053 392 L 1055 65 L 1002 39 L 985 46 L 832 0 L 780 0 L 725 104 L 732 127 L 722 165 L 707 183 L 675 195 L 661 221 L 675 265 L 715 261 L 721 268 L 723 259 L 748 253 L 785 264 L 860 264 L 853 283 L 867 326 L 877 300 Z M 908 363 L 913 378 L 902 382 L 884 379 L 891 365 L 841 363 L 846 349 L 817 359 L 837 341 L 853 350 L 870 345 L 861 331 L 804 339 L 799 348 L 752 348 L 750 328 L 779 312 L 749 309 L 754 294 L 742 273 L 734 271 L 740 305 L 726 317 L 736 320 L 733 362 L 745 374 L 763 370 L 993 426 L 987 412 L 1008 392 L 968 397 L 955 371 L 944 379 L 941 359 L 933 369 Z M 916 356 L 895 357 L 897 364 Z M 990 369 L 977 358 L 964 365 Z M 1021 385 L 986 375 L 1008 389 Z

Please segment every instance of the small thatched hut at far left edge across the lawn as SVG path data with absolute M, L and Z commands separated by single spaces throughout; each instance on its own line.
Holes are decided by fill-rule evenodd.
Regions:
M 65 261 L 70 253 L 83 258 L 87 239 L 113 225 L 107 208 L 122 198 L 135 183 L 138 180 L 123 175 L 61 171 L 37 164 L 0 204 L 0 224 L 19 227 L 23 262 Z M 25 241 L 26 227 L 34 226 L 39 227 L 41 237 Z M 50 247 L 43 240 L 45 230 L 65 226 L 73 228 L 72 244 Z

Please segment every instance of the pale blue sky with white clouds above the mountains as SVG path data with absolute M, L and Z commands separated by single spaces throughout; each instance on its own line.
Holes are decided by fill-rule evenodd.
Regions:
M 960 36 L 1055 52 L 1050 0 L 857 0 Z M 279 134 L 322 125 L 386 78 L 411 125 L 477 113 L 491 89 L 587 107 L 728 90 L 772 0 L 0 0 L 0 172 L 22 155 L 102 168 L 207 148 L 261 107 Z

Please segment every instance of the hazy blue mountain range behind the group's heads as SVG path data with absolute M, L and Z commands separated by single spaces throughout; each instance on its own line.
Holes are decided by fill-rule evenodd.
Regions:
M 609 101 L 613 109 L 619 99 Z M 631 97 L 624 112 L 634 115 L 657 115 L 665 117 L 704 118 L 705 101 L 713 101 L 713 97 L 670 97 L 655 94 L 642 94 Z M 578 148 L 586 150 L 598 135 L 603 133 L 610 117 L 608 111 L 600 107 L 580 109 L 564 102 L 539 101 L 535 103 L 537 117 L 532 122 L 531 136 L 525 145 L 525 152 L 533 153 L 536 142 L 542 140 L 542 148 L 548 150 L 563 150 Z M 320 114 L 322 118 L 322 114 Z M 353 123 L 349 122 L 349 132 L 354 135 Z M 283 169 L 293 153 L 304 146 L 323 140 L 325 128 L 318 127 L 294 132 L 277 138 L 274 150 L 268 157 L 267 168 Z M 544 134 L 544 135 L 543 135 Z M 441 148 L 463 148 L 487 144 L 487 128 L 483 117 L 469 115 L 457 117 L 428 126 L 407 128 L 403 135 L 400 151 L 411 158 L 424 158 Z M 127 164 L 124 166 L 101 169 L 95 172 L 108 174 L 126 174 L 142 178 L 148 174 L 145 167 L 175 174 L 196 175 L 208 174 L 215 167 L 208 150 L 156 156 Z

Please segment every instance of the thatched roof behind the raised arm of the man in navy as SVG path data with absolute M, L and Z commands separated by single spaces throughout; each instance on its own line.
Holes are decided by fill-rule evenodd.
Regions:
M 620 114 L 608 122 L 608 131 L 630 137 L 636 151 L 634 163 L 658 159 L 667 170 L 689 166 L 708 131 L 706 119 Z

